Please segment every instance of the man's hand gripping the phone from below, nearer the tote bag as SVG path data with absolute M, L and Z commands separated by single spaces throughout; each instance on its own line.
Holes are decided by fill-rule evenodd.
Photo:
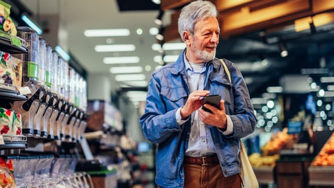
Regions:
M 203 109 L 198 110 L 198 116 L 200 120 L 202 120 L 203 123 L 209 124 L 215 127 L 218 127 L 222 130 L 225 130 L 228 126 L 228 120 L 226 118 L 226 112 L 224 107 L 224 101 L 221 100 L 220 109 L 217 109 L 216 107 L 210 105 L 210 104 L 204 104 L 205 108 L 212 111 L 212 113 L 205 111 Z

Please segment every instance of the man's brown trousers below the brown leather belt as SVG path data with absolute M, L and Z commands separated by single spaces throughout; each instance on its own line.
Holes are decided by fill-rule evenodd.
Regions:
M 239 174 L 224 177 L 219 164 L 184 164 L 184 188 L 241 188 Z

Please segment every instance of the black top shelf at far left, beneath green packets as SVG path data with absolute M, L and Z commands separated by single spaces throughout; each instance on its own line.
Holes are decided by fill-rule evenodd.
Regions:
M 22 54 L 28 52 L 24 40 L 3 32 L 0 32 L 0 50 L 10 54 Z

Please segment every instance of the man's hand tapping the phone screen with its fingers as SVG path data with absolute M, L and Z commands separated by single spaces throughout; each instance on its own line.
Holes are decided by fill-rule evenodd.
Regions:
M 182 119 L 190 116 L 193 111 L 196 111 L 200 107 L 202 107 L 202 97 L 209 95 L 209 91 L 203 91 L 198 90 L 193 93 L 190 93 L 188 100 L 186 100 L 186 104 L 184 104 L 184 107 L 181 109 L 181 117 Z

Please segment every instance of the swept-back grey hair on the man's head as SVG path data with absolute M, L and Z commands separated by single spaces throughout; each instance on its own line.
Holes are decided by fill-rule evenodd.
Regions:
M 207 17 L 217 17 L 218 12 L 216 6 L 210 1 L 193 1 L 182 8 L 179 20 L 178 29 L 181 39 L 183 38 L 183 31 L 194 33 L 195 24 Z

